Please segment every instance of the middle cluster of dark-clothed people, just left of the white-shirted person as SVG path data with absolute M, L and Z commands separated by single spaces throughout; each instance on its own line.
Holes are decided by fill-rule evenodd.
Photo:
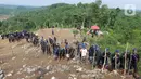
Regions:
M 48 42 L 49 41 L 49 42 Z M 69 45 L 67 39 L 62 41 L 61 43 L 57 43 L 56 37 L 49 39 L 41 38 L 40 41 L 41 50 L 43 54 L 47 52 L 47 54 L 53 54 L 54 60 L 61 60 L 61 58 L 73 58 L 75 49 Z

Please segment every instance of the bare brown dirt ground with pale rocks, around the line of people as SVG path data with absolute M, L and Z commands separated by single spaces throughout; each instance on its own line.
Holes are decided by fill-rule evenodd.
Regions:
M 37 34 L 48 38 L 51 36 L 51 30 L 41 29 Z M 60 41 L 63 39 L 74 41 L 70 29 L 54 29 L 54 31 Z M 4 71 L 5 79 L 51 79 L 52 76 L 57 79 L 93 79 L 92 77 L 102 77 L 106 74 L 103 79 L 121 79 L 119 75 L 110 75 L 108 71 L 97 75 L 100 70 L 90 70 L 89 64 L 79 64 L 76 60 L 54 61 L 53 56 L 43 55 L 40 47 L 34 47 L 25 40 L 14 43 L 0 40 L 0 68 Z

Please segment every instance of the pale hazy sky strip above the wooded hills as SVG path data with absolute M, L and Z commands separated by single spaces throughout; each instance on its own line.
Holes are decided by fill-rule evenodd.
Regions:
M 15 4 L 15 5 L 34 5 L 34 6 L 42 6 L 42 5 L 51 5 L 53 3 L 90 3 L 95 0 L 0 0 L 0 4 Z M 137 9 L 141 10 L 141 0 L 102 0 L 103 4 L 107 4 L 110 8 L 124 8 L 125 4 L 134 4 Z

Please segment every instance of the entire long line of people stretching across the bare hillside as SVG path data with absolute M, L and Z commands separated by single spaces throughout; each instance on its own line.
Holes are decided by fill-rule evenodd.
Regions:
M 52 30 L 52 35 L 54 31 Z M 120 52 L 116 50 L 114 53 L 110 52 L 110 48 L 106 48 L 104 52 L 98 44 L 90 45 L 88 49 L 85 40 L 82 42 L 77 41 L 76 47 L 72 47 L 67 39 L 62 40 L 57 43 L 56 37 L 49 37 L 44 39 L 39 38 L 38 35 L 34 32 L 28 32 L 26 30 L 20 32 L 11 32 L 7 35 L 1 35 L 2 39 L 9 39 L 9 42 L 20 41 L 21 39 L 26 39 L 27 42 L 31 42 L 34 45 L 41 48 L 42 53 L 47 55 L 53 55 L 54 60 L 62 58 L 78 58 L 81 63 L 90 63 L 93 67 L 106 68 L 106 69 L 125 69 L 129 73 L 138 73 L 138 62 L 140 60 L 138 49 L 132 49 L 132 51 Z M 85 38 L 86 39 L 86 38 Z

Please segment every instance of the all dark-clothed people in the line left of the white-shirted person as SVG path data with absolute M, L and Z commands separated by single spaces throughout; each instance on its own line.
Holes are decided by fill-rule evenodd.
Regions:
M 54 35 L 54 30 L 52 29 L 52 35 Z M 1 35 L 2 39 L 9 39 L 9 42 L 20 41 L 22 39 L 26 39 L 28 43 L 33 43 L 34 45 L 41 47 L 43 54 L 53 54 L 55 58 L 67 58 L 74 57 L 75 49 L 69 45 L 67 39 L 57 43 L 56 37 L 49 37 L 49 39 L 44 39 L 43 37 L 40 39 L 38 35 L 34 32 L 29 32 L 26 30 L 10 32 Z

